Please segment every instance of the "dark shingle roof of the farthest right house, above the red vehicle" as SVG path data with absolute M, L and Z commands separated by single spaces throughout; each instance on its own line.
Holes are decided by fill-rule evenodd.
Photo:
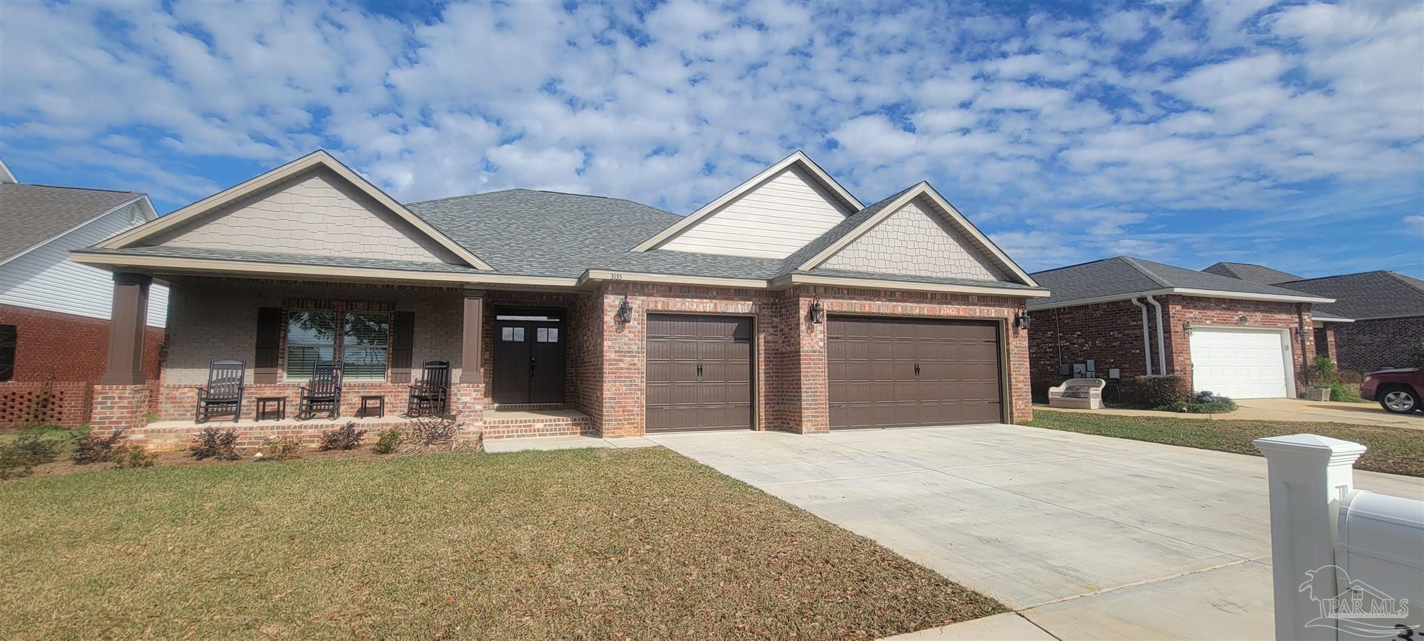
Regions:
M 1356 320 L 1424 316 L 1424 281 L 1390 271 L 1309 278 L 1280 283 L 1336 299 L 1319 309 Z

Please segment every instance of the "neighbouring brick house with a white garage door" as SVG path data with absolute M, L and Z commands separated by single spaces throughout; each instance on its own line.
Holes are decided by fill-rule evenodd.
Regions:
M 1132 256 L 1031 275 L 1035 386 L 1178 375 L 1198 392 L 1293 397 L 1314 359 L 1312 306 L 1331 298 Z

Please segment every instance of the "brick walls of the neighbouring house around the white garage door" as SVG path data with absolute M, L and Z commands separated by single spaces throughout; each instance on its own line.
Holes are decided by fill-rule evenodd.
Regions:
M 1304 389 L 1306 366 L 1316 355 L 1310 305 L 1178 295 L 1161 296 L 1158 302 L 1162 305 L 1165 373 L 1192 380 L 1192 348 L 1185 323 L 1279 328 L 1290 333 L 1296 389 Z M 1059 363 L 1074 365 L 1087 359 L 1095 360 L 1099 377 L 1106 377 L 1112 368 L 1121 370 L 1122 379 L 1142 376 L 1148 373 L 1148 355 L 1152 373 L 1163 373 L 1158 366 L 1156 311 L 1151 305 L 1148 353 L 1143 353 L 1142 345 L 1142 311 L 1129 301 L 1044 309 L 1032 316 L 1030 353 L 1034 385 L 1057 385 L 1068 377 L 1059 373 Z

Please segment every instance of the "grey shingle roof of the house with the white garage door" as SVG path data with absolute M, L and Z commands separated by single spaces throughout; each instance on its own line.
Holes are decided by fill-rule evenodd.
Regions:
M 1102 261 L 1034 272 L 1032 276 L 1040 285 L 1052 291 L 1052 295 L 1030 301 L 1030 309 L 1065 308 L 1168 293 L 1310 303 L 1327 303 L 1331 301 L 1330 298 L 1273 285 L 1219 276 L 1216 273 L 1132 256 L 1105 258 Z

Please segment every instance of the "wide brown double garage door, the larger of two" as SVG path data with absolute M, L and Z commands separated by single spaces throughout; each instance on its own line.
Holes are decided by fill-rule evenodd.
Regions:
M 1002 420 L 998 323 L 826 320 L 830 427 Z

